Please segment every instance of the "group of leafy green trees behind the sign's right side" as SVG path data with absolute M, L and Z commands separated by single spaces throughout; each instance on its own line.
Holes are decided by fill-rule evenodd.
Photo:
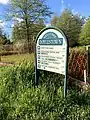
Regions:
M 69 39 L 71 47 L 90 44 L 90 18 L 86 19 L 64 9 L 60 16 L 54 16 L 51 25 L 62 29 Z

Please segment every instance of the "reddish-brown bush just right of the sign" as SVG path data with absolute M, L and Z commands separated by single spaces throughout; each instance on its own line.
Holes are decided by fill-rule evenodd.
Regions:
M 74 48 L 69 56 L 69 75 L 84 80 L 84 70 L 87 69 L 87 53 L 85 48 Z

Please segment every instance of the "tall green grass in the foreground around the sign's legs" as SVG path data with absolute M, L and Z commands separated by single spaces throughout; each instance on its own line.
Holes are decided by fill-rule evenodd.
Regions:
M 0 68 L 1 120 L 88 120 L 90 93 L 70 91 L 63 98 L 63 76 L 40 72 L 34 86 L 33 63 Z

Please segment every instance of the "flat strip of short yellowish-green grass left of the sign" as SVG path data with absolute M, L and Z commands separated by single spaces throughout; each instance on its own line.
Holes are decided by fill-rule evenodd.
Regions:
M 33 61 L 34 60 L 34 54 L 18 54 L 18 55 L 8 55 L 8 56 L 2 56 L 1 61 L 2 62 L 12 62 L 15 64 L 18 64 L 22 61 Z

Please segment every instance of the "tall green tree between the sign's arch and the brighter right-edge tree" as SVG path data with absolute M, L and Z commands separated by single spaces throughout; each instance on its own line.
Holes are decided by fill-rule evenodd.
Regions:
M 60 17 L 54 17 L 51 24 L 62 29 L 68 36 L 70 46 L 77 45 L 79 34 L 84 24 L 84 19 L 78 14 L 74 15 L 71 10 L 65 9 Z

